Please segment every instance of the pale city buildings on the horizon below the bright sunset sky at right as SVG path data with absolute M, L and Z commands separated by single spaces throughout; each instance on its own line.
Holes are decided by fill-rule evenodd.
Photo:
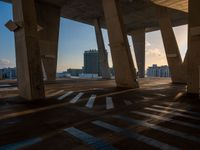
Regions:
M 157 66 L 156 64 L 148 67 L 147 69 L 148 77 L 170 77 L 170 71 L 168 66 Z

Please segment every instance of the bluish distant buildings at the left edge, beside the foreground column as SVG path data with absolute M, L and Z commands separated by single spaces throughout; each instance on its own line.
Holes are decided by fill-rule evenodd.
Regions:
M 0 69 L 0 79 L 16 79 L 17 71 L 16 68 L 3 68 Z

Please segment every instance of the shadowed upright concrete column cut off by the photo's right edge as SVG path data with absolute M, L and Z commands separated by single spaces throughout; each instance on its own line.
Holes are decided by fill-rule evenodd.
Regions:
M 189 0 L 188 93 L 199 94 L 200 84 L 200 1 Z

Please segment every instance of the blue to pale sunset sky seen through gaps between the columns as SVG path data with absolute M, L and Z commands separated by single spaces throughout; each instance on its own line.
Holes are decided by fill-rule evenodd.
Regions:
M 12 20 L 12 6 L 0 1 L 0 68 L 15 67 L 14 34 L 4 25 Z M 182 59 L 187 50 L 187 25 L 173 28 Z M 106 49 L 108 50 L 109 66 L 112 67 L 107 30 L 102 29 Z M 128 36 L 133 60 L 135 54 L 131 37 Z M 61 18 L 58 44 L 57 71 L 68 68 L 82 68 L 85 50 L 97 49 L 93 26 Z M 146 68 L 152 64 L 167 65 L 166 55 L 160 31 L 146 33 Z M 136 67 L 137 68 L 137 67 Z

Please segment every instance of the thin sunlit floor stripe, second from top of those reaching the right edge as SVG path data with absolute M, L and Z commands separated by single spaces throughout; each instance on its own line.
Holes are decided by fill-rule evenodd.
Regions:
M 194 120 L 200 120 L 200 117 L 193 117 L 190 115 L 185 115 L 185 114 L 177 113 L 174 111 L 160 110 L 160 109 L 149 108 L 149 107 L 146 107 L 144 109 L 159 112 L 159 113 L 173 114 L 174 116 L 181 116 L 181 117 L 190 118 L 190 119 L 194 119 Z

